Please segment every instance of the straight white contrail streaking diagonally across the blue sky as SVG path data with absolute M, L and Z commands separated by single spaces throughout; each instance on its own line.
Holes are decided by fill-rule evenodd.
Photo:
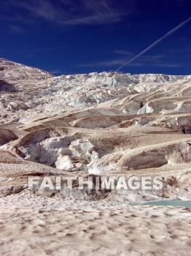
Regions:
M 176 30 L 180 29 L 182 26 L 184 26 L 187 22 L 189 22 L 191 20 L 191 17 L 188 18 L 187 20 L 184 20 L 182 23 L 180 23 L 178 26 L 176 26 L 174 29 L 171 29 L 170 31 L 168 31 L 163 37 L 160 37 L 159 39 L 157 39 L 157 41 L 153 42 L 152 45 L 149 45 L 149 47 L 145 48 L 144 50 L 141 51 L 141 53 L 139 53 L 138 55 L 136 55 L 135 57 L 133 57 L 133 59 L 130 59 L 130 61 L 126 62 L 125 64 L 123 64 L 121 67 L 119 67 L 118 69 L 115 70 L 115 72 L 119 71 L 120 69 L 122 69 L 122 67 L 125 67 L 126 65 L 128 65 L 130 62 L 134 61 L 135 59 L 137 59 L 139 56 L 143 55 L 144 53 L 146 53 L 148 50 L 150 50 L 151 48 L 153 48 L 155 45 L 157 45 L 160 41 L 162 41 L 163 39 L 165 39 L 165 37 L 170 36 L 170 34 L 173 34 Z

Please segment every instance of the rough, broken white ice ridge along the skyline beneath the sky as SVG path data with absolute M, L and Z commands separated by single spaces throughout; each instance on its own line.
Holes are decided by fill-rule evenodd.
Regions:
M 55 115 L 69 113 L 74 108 L 97 107 L 112 100 L 114 102 L 109 103 L 112 108 L 122 104 L 124 113 L 134 114 L 147 99 L 140 98 L 127 106 L 122 103 L 125 97 L 125 102 L 129 102 L 129 97 L 136 94 L 167 95 L 166 91 L 171 91 L 168 96 L 174 95 L 182 85 L 189 91 L 190 79 L 190 75 L 130 75 L 117 72 L 54 77 L 40 69 L 0 59 L 1 118 L 4 116 L 7 121 L 12 121 L 19 117 L 18 120 L 26 122 L 34 111 Z M 186 91 L 184 94 L 189 95 Z M 104 108 L 106 106 L 107 103 Z

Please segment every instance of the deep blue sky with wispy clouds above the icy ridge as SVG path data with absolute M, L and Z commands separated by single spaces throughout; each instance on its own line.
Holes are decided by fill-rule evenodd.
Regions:
M 190 0 L 0 0 L 0 56 L 54 75 L 114 71 L 190 16 Z M 120 71 L 190 75 L 190 31 Z

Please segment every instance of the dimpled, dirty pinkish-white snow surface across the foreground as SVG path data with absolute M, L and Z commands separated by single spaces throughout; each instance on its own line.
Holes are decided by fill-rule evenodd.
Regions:
M 190 255 L 190 208 L 0 199 L 1 255 Z

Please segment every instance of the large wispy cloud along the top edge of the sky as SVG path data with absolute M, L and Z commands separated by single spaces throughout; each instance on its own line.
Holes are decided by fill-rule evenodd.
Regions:
M 28 18 L 43 18 L 62 25 L 116 23 L 134 12 L 132 2 L 127 2 L 127 8 L 122 10 L 120 3 L 112 6 L 113 1 L 109 0 L 7 0 L 7 4 L 26 10 Z

